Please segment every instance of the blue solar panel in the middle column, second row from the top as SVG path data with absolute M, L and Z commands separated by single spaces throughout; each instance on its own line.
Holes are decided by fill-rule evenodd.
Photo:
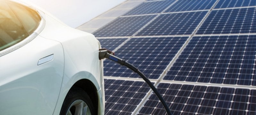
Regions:
M 162 14 L 136 36 L 192 34 L 207 11 Z

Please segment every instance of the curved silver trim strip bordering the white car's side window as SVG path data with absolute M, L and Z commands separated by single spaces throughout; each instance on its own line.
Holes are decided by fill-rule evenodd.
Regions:
M 37 10 L 36 10 L 37 11 Z M 37 11 L 38 12 L 38 11 Z M 17 50 L 19 49 L 20 47 L 26 45 L 28 42 L 32 41 L 33 39 L 36 38 L 36 36 L 41 32 L 43 31 L 44 27 L 45 27 L 45 19 L 42 17 L 42 15 L 38 12 L 38 14 L 40 15 L 41 17 L 41 21 L 38 25 L 38 27 L 36 28 L 36 30 L 31 34 L 29 35 L 26 39 L 22 40 L 21 42 L 7 48 L 7 49 L 4 49 L 2 51 L 0 51 L 0 57 L 1 56 L 4 56 L 5 54 L 8 54 L 14 50 Z

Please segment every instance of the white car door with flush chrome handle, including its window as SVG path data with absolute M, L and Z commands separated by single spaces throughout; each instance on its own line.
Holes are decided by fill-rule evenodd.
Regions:
M 18 6 L 11 9 L 12 5 Z M 49 115 L 60 93 L 63 48 L 60 42 L 39 36 L 35 31 L 43 29 L 43 19 L 19 5 L 0 4 L 0 115 Z M 18 9 L 28 13 L 21 16 L 33 15 L 32 19 L 22 21 L 15 14 Z

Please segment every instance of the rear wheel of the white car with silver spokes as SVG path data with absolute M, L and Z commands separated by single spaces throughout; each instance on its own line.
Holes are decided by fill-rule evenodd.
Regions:
M 62 104 L 60 115 L 95 115 L 88 94 L 81 88 L 71 88 Z

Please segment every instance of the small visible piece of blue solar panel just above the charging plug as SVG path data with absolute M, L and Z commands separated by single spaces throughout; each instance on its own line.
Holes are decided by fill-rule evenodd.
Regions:
M 115 50 L 119 45 L 121 45 L 127 38 L 107 38 L 107 39 L 98 39 L 102 48 L 108 50 Z

